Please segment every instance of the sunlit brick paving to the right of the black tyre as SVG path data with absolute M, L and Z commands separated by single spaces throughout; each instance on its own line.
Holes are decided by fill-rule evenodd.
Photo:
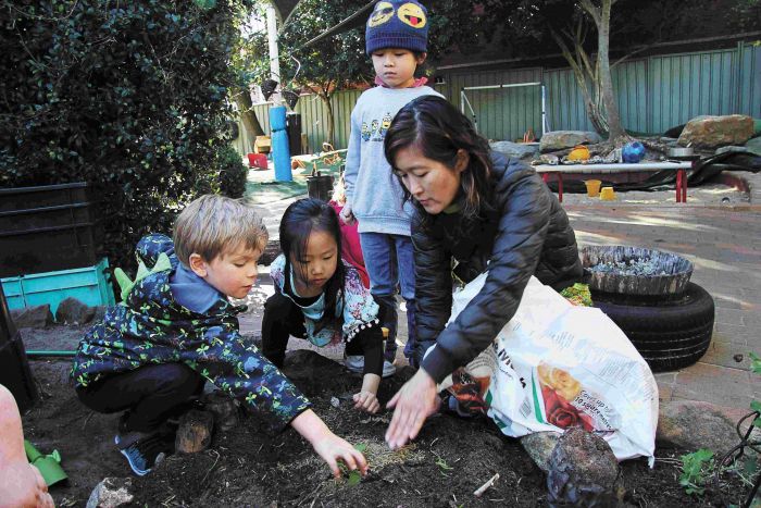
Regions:
M 761 354 L 761 211 L 690 206 L 566 206 L 579 245 L 632 245 L 689 259 L 691 280 L 714 299 L 711 347 L 693 367 L 657 374 L 662 400 L 748 408 L 761 380 L 748 352 Z

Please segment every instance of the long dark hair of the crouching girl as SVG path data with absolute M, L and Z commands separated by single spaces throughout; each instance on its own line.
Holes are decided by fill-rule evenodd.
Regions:
M 303 259 L 304 252 L 307 252 L 309 236 L 312 233 L 319 232 L 327 233 L 336 240 L 336 256 L 338 260 L 336 263 L 336 272 L 327 283 L 325 283 L 325 311 L 316 323 L 317 331 L 323 330 L 338 320 L 338 318 L 336 318 L 338 295 L 340 294 L 341 299 L 344 299 L 344 278 L 346 273 L 344 262 L 341 261 L 340 225 L 338 224 L 338 216 L 335 210 L 325 201 L 307 198 L 290 203 L 280 220 L 280 249 L 283 249 L 283 253 L 285 255 L 286 287 L 288 287 L 290 280 L 291 255 L 294 259 Z M 309 278 L 305 273 L 307 267 L 303 263 L 299 264 L 300 265 L 294 270 L 294 273 L 301 281 L 307 281 Z M 341 305 L 345 303 L 345 301 L 341 301 Z

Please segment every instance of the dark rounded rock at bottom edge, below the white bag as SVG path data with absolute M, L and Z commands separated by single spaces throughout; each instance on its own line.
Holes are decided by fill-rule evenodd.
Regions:
M 550 506 L 609 506 L 619 462 L 602 437 L 583 429 L 571 429 L 558 439 L 547 474 Z

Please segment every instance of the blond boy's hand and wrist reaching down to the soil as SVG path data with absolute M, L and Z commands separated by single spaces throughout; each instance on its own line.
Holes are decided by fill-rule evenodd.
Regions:
M 359 469 L 363 475 L 367 474 L 367 461 L 364 456 L 346 439 L 330 432 L 325 422 L 311 409 L 296 417 L 290 425 L 312 445 L 314 451 L 330 468 L 334 476 L 341 475 L 338 460 L 342 460 L 350 471 Z

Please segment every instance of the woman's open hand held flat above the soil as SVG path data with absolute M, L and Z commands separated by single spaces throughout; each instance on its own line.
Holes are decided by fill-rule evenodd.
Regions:
M 386 431 L 388 446 L 397 449 L 414 439 L 425 420 L 438 410 L 439 402 L 436 382 L 420 369 L 386 405 L 388 409 L 395 408 Z

